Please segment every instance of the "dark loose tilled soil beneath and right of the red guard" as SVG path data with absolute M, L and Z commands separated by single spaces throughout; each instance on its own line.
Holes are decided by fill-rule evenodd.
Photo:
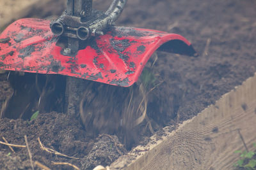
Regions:
M 102 9 L 109 4 L 95 3 L 102 3 Z M 200 55 L 156 52 L 138 83 L 129 88 L 74 79 L 84 86 L 72 114 L 65 77 L 2 73 L 0 101 L 5 118 L 0 120 L 0 140 L 4 136 L 9 143 L 25 145 L 28 136 L 33 160 L 52 169 L 70 169 L 52 161 L 81 169 L 111 164 L 154 132 L 161 134 L 161 127 L 194 117 L 256 72 L 255 8 L 254 0 L 129 1 L 118 25 L 181 34 Z M 138 125 L 145 108 L 147 117 Z M 30 121 L 37 110 L 39 116 Z M 80 159 L 45 152 L 38 137 L 45 147 Z M 15 152 L 0 145 L 0 169 L 31 168 L 26 148 Z

